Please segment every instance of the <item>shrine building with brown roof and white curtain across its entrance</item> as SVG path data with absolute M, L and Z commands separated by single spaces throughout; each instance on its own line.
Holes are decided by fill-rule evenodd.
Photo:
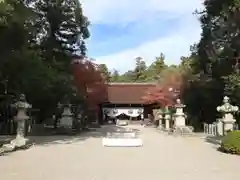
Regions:
M 108 118 L 140 120 L 152 114 L 154 104 L 147 104 L 142 99 L 154 83 L 109 83 L 107 98 L 99 104 L 100 119 Z

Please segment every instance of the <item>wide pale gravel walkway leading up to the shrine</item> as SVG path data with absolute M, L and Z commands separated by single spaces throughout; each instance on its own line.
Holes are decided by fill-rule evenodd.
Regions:
M 99 132 L 39 137 L 26 151 L 0 157 L 1 180 L 234 180 L 240 157 L 217 152 L 200 138 L 138 127 L 141 148 L 104 148 Z M 58 139 L 57 139 L 58 138 Z

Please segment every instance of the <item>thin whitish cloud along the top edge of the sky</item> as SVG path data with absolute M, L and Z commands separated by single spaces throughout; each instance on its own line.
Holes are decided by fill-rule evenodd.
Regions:
M 202 0 L 80 0 L 92 23 L 126 24 L 147 14 L 165 12 L 171 17 L 192 14 Z M 164 17 L 167 18 L 167 17 Z

